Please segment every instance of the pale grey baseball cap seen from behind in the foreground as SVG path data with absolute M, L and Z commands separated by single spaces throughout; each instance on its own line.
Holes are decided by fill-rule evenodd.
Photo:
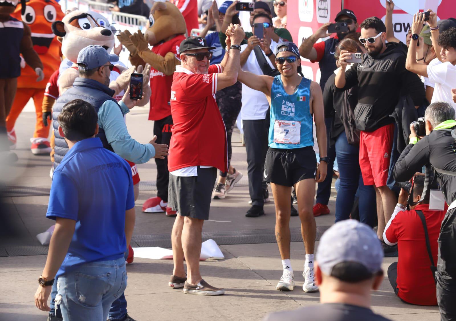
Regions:
M 383 249 L 377 235 L 368 225 L 356 220 L 337 222 L 323 233 L 316 252 L 321 271 L 332 274 L 342 262 L 362 264 L 370 273 L 381 270 Z

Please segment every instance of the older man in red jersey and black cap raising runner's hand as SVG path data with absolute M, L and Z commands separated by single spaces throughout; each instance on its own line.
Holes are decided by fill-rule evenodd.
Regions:
M 209 49 L 214 47 L 208 47 L 202 37 L 182 41 L 181 65 L 176 66 L 171 86 L 174 125 L 168 157 L 168 206 L 179 214 L 171 234 L 174 269 L 169 286 L 183 287 L 187 294 L 224 293 L 223 289 L 202 280 L 199 258 L 202 226 L 209 218 L 217 168 L 228 170 L 226 129 L 215 93 L 236 83 L 240 69 L 239 44 L 245 36 L 238 25 L 230 26 L 227 32 L 232 36 L 225 57 L 220 64 L 210 67 L 212 52 Z

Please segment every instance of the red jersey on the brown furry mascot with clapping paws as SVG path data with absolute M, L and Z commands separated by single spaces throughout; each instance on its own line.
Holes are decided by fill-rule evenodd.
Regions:
M 179 45 L 185 39 L 184 35 L 178 35 L 169 41 L 162 42 L 152 47 L 152 52 L 165 57 L 168 52 L 174 53 L 179 58 Z M 171 115 L 170 97 L 173 75 L 166 76 L 163 72 L 150 68 L 150 109 L 149 120 L 160 120 Z

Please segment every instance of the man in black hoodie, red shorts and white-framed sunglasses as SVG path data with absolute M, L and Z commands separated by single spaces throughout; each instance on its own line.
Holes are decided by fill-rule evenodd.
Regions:
M 374 185 L 377 193 L 377 236 L 383 239 L 383 230 L 394 210 L 397 198 L 386 185 L 393 145 L 394 120 L 389 117 L 398 103 L 401 92 L 407 92 L 418 106 L 425 96 L 424 86 L 417 75 L 405 69 L 405 52 L 397 43 L 385 43 L 386 27 L 377 17 L 367 18 L 361 24 L 359 41 L 368 53 L 364 61 L 347 72 L 346 60 L 350 53 L 341 51 L 341 69 L 334 83 L 347 90 L 358 85 L 358 105 L 355 108 L 356 128 L 361 130 L 359 165 L 365 185 Z M 385 254 L 395 247 L 383 243 Z

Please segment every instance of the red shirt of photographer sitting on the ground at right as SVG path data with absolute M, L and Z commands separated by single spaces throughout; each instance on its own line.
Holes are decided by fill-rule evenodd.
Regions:
M 430 211 L 429 204 L 418 205 L 415 210 L 423 211 L 426 218 L 432 257 L 437 264 L 437 238 L 446 211 Z M 398 244 L 399 298 L 417 305 L 437 305 L 425 231 L 415 210 L 393 215 L 386 225 L 384 241 L 389 245 Z

